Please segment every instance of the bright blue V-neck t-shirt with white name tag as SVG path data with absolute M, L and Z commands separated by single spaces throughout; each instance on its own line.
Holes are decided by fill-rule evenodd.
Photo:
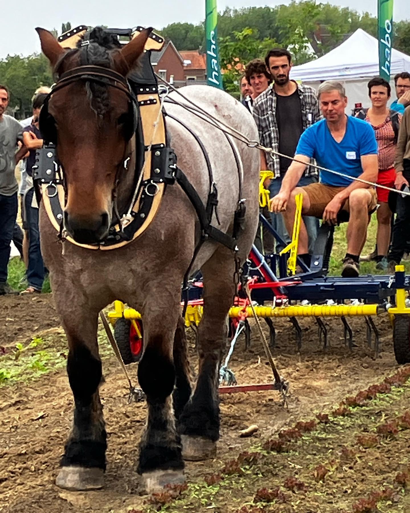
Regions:
M 318 166 L 357 178 L 363 172 L 360 157 L 377 155 L 375 131 L 370 123 L 347 116 L 346 132 L 340 143 L 337 143 L 326 120 L 320 120 L 302 133 L 296 154 L 315 159 Z M 320 182 L 347 187 L 352 180 L 329 171 L 320 171 Z

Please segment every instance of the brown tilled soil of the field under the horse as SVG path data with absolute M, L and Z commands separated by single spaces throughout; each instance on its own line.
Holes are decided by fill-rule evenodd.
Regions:
M 0 347 L 6 352 L 0 357 L 0 368 L 7 365 L 10 349 L 16 342 L 27 345 L 33 337 L 52 340 L 61 351 L 61 359 L 65 358 L 64 339 L 50 296 L 0 298 L 0 307 L 3 312 L 0 319 Z M 380 383 L 385 376 L 399 368 L 393 355 L 392 328 L 387 315 L 375 319 L 381 343 L 378 358 L 368 347 L 363 319 L 350 320 L 356 346 L 351 353 L 344 345 L 341 321 L 331 319 L 325 323 L 329 329 L 329 347 L 323 351 L 314 320 L 300 321 L 303 339 L 299 354 L 291 323 L 288 320 L 275 320 L 277 347 L 274 358 L 281 375 L 290 382 L 289 409 L 283 407 L 275 391 L 222 396 L 217 459 L 187 464 L 187 480 L 192 486 L 184 493 L 193 496 L 189 496 L 185 503 L 180 502 L 179 506 L 178 503 L 170 504 L 167 506 L 171 508 L 170 511 L 237 511 L 243 504 L 252 502 L 262 484 L 271 488 L 280 486 L 288 476 L 299 476 L 303 482 L 309 483 L 309 490 L 288 492 L 288 502 L 275 506 L 275 511 L 352 511 L 352 504 L 365 496 L 366 491 L 373 490 L 378 483 L 383 485 L 386 481 L 392 481 L 392 472 L 399 468 L 403 451 L 408 450 L 408 436 L 404 432 L 392 440 L 381 439 L 367 452 L 356 447 L 359 453 L 357 464 L 347 470 L 338 464 L 331 478 L 324 483 L 316 483 L 308 475 L 311 476 L 313 464 L 339 461 L 340 446 L 348 446 L 350 441 L 354 443 L 363 428 L 375 429 L 380 418 L 394 417 L 407 409 L 410 391 L 406 387 L 397 389 L 391 397 L 387 394 L 384 402 L 376 404 L 376 411 L 370 405 L 370 409 L 362 409 L 361 413 L 346 418 L 348 420 L 345 422 L 323 425 L 311 433 L 310 438 L 304 437 L 289 454 L 265 454 L 256 473 L 245 470 L 242 476 L 224 480 L 218 490 L 211 487 L 215 494 L 195 498 L 195 486 L 202 490 L 201 493 L 205 489 L 203 477 L 220 472 L 224 463 L 236 458 L 240 452 L 260 448 L 265 440 L 271 439 L 284 426 L 312 419 L 317 412 L 331 411 L 346 396 Z M 238 341 L 231 368 L 239 384 L 272 382 L 272 372 L 267 365 L 256 326 L 251 325 L 251 347 L 245 350 L 244 340 L 241 338 Z M 191 353 L 194 363 L 193 346 Z M 37 380 L 15 384 L 6 382 L 0 386 L 0 511 L 122 513 L 132 508 L 136 511 L 160 509 L 158 505 L 145 504 L 147 497 L 138 494 L 135 469 L 138 442 L 145 425 L 146 405 L 127 404 L 125 378 L 111 353 L 104 354 L 106 382 L 100 393 L 108 432 L 105 488 L 74 493 L 60 490 L 54 484 L 71 424 L 72 394 L 65 371 L 52 370 Z M 136 381 L 136 365 L 131 365 L 129 369 Z M 374 417 L 373 423 L 367 423 L 367 419 Z M 239 438 L 239 430 L 251 424 L 257 424 L 259 431 L 252 438 Z M 339 481 L 336 483 L 337 479 Z M 339 486 L 343 480 L 347 491 Z M 407 511 L 406 508 L 402 509 L 405 498 L 400 496 L 395 500 L 391 509 L 383 511 Z M 263 511 L 260 509 L 262 506 L 257 507 L 257 511 Z M 247 513 L 245 509 L 243 511 Z

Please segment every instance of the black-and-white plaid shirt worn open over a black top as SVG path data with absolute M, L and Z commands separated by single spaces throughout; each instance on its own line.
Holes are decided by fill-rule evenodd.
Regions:
M 302 108 L 303 131 L 320 120 L 319 105 L 316 91 L 313 87 L 297 85 Z M 263 91 L 254 101 L 253 117 L 258 127 L 259 142 L 262 146 L 279 151 L 279 129 L 276 121 L 276 94 L 274 87 Z M 293 155 L 290 155 L 293 156 Z M 275 178 L 280 176 L 279 156 L 266 153 L 268 169 L 275 173 Z M 314 163 L 314 160 L 311 161 Z M 306 168 L 305 175 L 317 175 L 315 168 Z

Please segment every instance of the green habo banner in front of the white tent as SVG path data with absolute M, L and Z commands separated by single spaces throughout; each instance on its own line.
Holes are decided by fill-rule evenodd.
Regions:
M 379 73 L 390 82 L 393 49 L 393 0 L 378 0 Z

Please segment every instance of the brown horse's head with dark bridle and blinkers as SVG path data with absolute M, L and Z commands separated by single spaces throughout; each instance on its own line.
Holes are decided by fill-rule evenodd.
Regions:
M 151 29 L 121 48 L 114 36 L 97 28 L 89 44 L 80 42 L 75 50 L 61 47 L 47 30 L 36 30 L 58 78 L 43 119 L 45 138 L 54 134 L 64 169 L 65 227 L 77 242 L 98 242 L 108 233 L 116 182 L 135 147 L 136 109 L 125 77 L 144 51 Z M 106 68 L 108 76 L 99 68 L 99 77 L 95 68 L 94 79 L 85 80 L 76 71 L 84 65 Z

